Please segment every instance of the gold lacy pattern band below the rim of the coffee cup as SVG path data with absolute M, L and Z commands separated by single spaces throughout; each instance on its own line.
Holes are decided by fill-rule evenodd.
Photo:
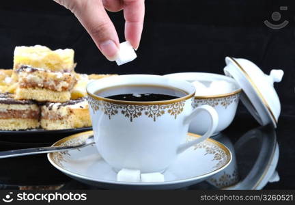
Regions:
M 88 96 L 89 105 L 92 107 L 94 113 L 98 110 L 102 111 L 105 115 L 109 116 L 111 120 L 112 115 L 121 113 L 132 122 L 135 118 L 142 115 L 152 118 L 154 122 L 165 113 L 169 113 L 176 119 L 184 110 L 185 101 L 178 101 L 167 105 L 126 105 L 115 104 L 104 100 L 97 100 Z

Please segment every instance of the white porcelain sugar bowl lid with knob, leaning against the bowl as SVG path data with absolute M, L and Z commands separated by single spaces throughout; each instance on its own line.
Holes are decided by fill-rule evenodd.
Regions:
M 225 75 L 234 78 L 242 87 L 240 99 L 259 124 L 277 127 L 281 112 L 279 96 L 273 87 L 280 82 L 283 70 L 271 70 L 264 74 L 253 62 L 234 57 L 225 57 Z

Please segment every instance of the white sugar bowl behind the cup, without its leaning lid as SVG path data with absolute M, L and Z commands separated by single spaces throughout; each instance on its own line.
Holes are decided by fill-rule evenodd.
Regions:
M 240 92 L 242 91 L 240 85 L 238 85 L 234 79 L 222 74 L 208 72 L 179 72 L 167 74 L 165 76 L 183 79 L 191 83 L 197 81 L 193 83 L 196 87 L 194 107 L 210 105 L 214 107 L 219 114 L 219 124 L 213 135 L 223 131 L 234 120 L 240 100 Z M 218 82 L 226 82 L 231 86 L 231 90 L 227 89 L 227 91 L 224 92 L 222 89 L 219 89 L 218 86 L 213 85 L 217 85 Z M 205 88 L 201 90 L 203 85 L 205 85 Z M 213 85 L 213 87 L 210 85 Z M 209 127 L 210 116 L 206 112 L 200 112 L 196 119 L 191 122 L 189 132 L 203 135 Z

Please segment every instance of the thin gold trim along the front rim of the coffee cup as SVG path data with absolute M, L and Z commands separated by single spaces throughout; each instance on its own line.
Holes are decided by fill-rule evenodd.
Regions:
M 173 88 L 175 88 L 175 87 L 173 87 Z M 177 89 L 177 88 L 175 88 L 175 89 Z M 192 94 L 187 94 L 186 96 L 183 96 L 181 98 L 175 98 L 172 100 L 159 100 L 159 101 L 144 102 L 144 101 L 113 100 L 113 99 L 97 96 L 95 94 L 88 92 L 88 90 L 86 90 L 86 92 L 89 96 L 91 96 L 92 98 L 94 98 L 96 100 L 102 100 L 105 102 L 112 102 L 114 104 L 120 104 L 120 105 L 169 105 L 169 104 L 173 104 L 175 102 L 181 102 L 181 101 L 188 100 L 189 98 L 193 98 L 193 96 L 195 96 L 195 92 L 193 92 Z

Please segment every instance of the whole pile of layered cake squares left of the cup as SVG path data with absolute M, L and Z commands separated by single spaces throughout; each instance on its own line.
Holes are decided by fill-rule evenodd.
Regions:
M 113 74 L 74 72 L 74 50 L 16 46 L 13 69 L 0 69 L 0 130 L 92 126 L 86 86 Z

